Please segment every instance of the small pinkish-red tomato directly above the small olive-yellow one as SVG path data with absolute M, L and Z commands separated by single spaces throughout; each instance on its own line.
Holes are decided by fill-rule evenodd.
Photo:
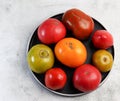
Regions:
M 107 49 L 113 45 L 113 37 L 106 30 L 97 30 L 92 36 L 92 42 L 96 48 Z

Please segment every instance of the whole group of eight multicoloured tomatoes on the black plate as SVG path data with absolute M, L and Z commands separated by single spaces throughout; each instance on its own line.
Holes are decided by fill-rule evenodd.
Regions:
M 33 72 L 45 74 L 46 87 L 63 89 L 67 82 L 66 72 L 60 67 L 53 68 L 55 58 L 67 68 L 74 68 L 71 78 L 74 88 L 90 92 L 99 86 L 101 72 L 112 68 L 113 57 L 106 49 L 113 45 L 113 37 L 106 30 L 94 32 L 92 43 L 98 50 L 92 56 L 92 64 L 86 64 L 89 52 L 82 41 L 89 39 L 93 29 L 93 19 L 78 9 L 66 11 L 61 21 L 49 18 L 38 27 L 40 44 L 29 50 L 27 61 Z M 72 31 L 74 37 L 66 37 L 67 30 Z M 54 50 L 49 47 L 51 44 L 54 44 Z

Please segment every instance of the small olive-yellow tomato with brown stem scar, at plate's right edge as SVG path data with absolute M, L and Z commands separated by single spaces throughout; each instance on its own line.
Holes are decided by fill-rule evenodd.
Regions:
M 93 64 L 101 71 L 108 72 L 113 65 L 112 54 L 106 50 L 98 50 L 92 56 Z

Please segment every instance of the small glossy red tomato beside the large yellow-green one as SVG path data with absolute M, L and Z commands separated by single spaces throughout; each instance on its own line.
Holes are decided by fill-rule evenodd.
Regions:
M 62 89 L 67 81 L 67 76 L 61 68 L 49 69 L 45 74 L 45 85 L 52 90 Z

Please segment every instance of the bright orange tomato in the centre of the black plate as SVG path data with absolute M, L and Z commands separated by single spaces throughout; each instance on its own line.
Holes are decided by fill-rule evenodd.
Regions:
M 64 38 L 55 46 L 55 55 L 64 65 L 76 68 L 85 63 L 87 50 L 84 44 L 75 38 Z

